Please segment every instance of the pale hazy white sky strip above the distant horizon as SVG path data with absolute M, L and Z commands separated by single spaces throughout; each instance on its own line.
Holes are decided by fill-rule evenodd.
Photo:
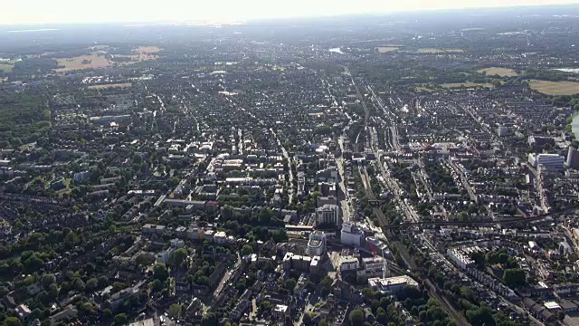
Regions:
M 579 0 L 13 0 L 0 5 L 0 24 L 223 21 L 576 3 Z

